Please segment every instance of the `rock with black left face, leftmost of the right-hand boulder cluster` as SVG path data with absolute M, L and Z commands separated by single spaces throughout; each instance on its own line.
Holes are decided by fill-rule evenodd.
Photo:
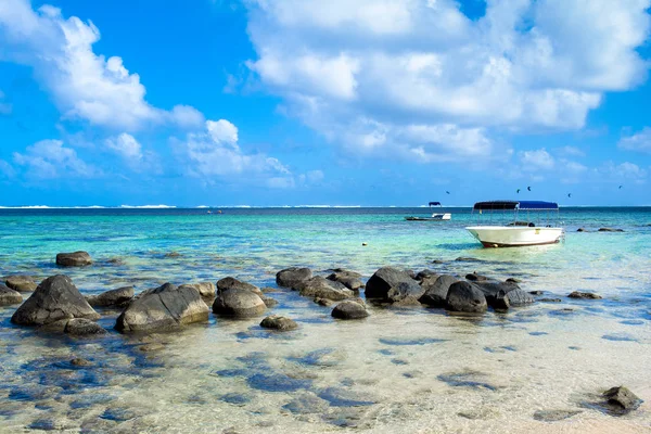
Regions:
M 424 290 L 405 270 L 382 267 L 369 279 L 365 294 L 386 303 L 419 304 Z

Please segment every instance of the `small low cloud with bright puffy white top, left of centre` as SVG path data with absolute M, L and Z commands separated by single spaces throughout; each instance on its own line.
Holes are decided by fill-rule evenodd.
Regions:
M 261 177 L 275 188 L 283 182 L 288 186 L 281 178 L 291 178 L 290 170 L 277 158 L 244 153 L 238 144 L 238 128 L 226 119 L 207 120 L 204 131 L 188 133 L 183 141 L 175 139 L 173 145 L 188 171 L 196 177 Z

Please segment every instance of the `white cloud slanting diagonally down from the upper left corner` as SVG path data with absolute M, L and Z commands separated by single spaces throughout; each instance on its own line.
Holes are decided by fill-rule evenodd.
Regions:
M 51 5 L 34 11 L 28 0 L 0 4 L 0 56 L 31 66 L 64 117 L 127 131 L 151 124 L 203 123 L 192 107 L 177 105 L 167 112 L 148 103 L 140 76 L 129 73 L 122 58 L 95 54 L 98 40 L 100 30 L 92 22 L 66 20 Z

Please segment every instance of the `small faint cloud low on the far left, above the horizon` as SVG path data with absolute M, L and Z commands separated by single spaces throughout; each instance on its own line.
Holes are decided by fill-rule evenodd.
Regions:
M 14 152 L 13 161 L 26 168 L 26 179 L 92 178 L 100 174 L 80 159 L 74 149 L 65 148 L 61 140 L 41 140 L 27 146 L 24 154 Z

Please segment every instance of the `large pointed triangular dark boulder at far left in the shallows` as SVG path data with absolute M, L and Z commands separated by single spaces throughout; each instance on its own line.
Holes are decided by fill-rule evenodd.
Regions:
M 11 317 L 11 322 L 21 326 L 42 326 L 71 318 L 94 320 L 99 319 L 100 315 L 90 307 L 68 277 L 58 275 L 38 285 Z

